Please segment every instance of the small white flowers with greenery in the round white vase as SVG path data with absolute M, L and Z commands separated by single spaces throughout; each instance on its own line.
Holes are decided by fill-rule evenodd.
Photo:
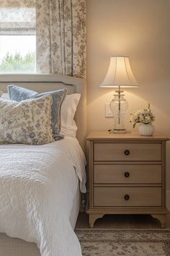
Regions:
M 143 124 L 152 124 L 155 121 L 155 116 L 151 112 L 150 104 L 148 103 L 148 108 L 144 108 L 143 110 L 138 110 L 135 114 L 131 114 L 130 122 L 133 123 L 133 128 L 137 123 Z

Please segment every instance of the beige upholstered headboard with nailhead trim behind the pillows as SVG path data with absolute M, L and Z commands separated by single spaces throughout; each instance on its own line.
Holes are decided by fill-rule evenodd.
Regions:
M 42 93 L 67 88 L 68 94 L 81 93 L 76 111 L 77 139 L 81 148 L 86 148 L 86 81 L 63 74 L 0 74 L 0 90 L 7 92 L 7 85 L 19 85 Z

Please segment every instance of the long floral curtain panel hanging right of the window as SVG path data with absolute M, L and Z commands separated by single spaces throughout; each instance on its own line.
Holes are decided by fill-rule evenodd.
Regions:
M 86 76 L 86 0 L 36 0 L 37 72 Z

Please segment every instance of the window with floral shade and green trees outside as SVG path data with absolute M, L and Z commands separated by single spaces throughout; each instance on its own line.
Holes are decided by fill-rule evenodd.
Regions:
M 0 73 L 36 72 L 35 4 L 22 1 L 0 1 Z

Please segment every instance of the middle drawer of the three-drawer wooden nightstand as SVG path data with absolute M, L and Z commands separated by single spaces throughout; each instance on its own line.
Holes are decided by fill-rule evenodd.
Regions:
M 95 164 L 94 184 L 161 184 L 161 165 Z

